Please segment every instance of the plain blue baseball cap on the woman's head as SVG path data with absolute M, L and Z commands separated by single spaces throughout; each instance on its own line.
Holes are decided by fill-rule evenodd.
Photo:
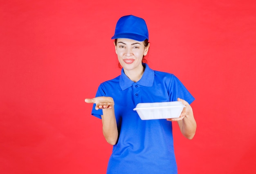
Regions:
M 128 15 L 117 21 L 115 35 L 111 39 L 128 38 L 139 42 L 148 39 L 148 27 L 144 19 Z

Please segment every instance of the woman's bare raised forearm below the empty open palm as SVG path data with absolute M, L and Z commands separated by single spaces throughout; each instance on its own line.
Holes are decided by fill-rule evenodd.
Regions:
M 101 120 L 103 135 L 106 138 L 106 141 L 111 145 L 115 145 L 117 143 L 118 131 L 114 107 L 111 109 L 103 109 Z

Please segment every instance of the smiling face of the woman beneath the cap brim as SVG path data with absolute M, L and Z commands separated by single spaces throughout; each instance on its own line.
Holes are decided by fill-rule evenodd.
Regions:
M 115 42 L 114 42 L 115 44 Z M 142 58 L 148 53 L 148 47 L 145 47 L 143 42 L 126 38 L 117 39 L 115 50 L 119 63 L 124 68 L 124 71 L 141 71 Z

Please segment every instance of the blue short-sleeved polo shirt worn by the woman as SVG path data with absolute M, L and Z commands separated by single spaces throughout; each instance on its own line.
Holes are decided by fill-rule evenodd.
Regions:
M 154 71 L 144 64 L 144 74 L 137 83 L 124 70 L 121 75 L 101 83 L 96 96 L 111 96 L 119 139 L 113 146 L 108 174 L 176 174 L 172 122 L 166 119 L 141 120 L 133 109 L 138 103 L 177 101 L 194 98 L 173 74 Z M 102 110 L 92 109 L 101 118 Z

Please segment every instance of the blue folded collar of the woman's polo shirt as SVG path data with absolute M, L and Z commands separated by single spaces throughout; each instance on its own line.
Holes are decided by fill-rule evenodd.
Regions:
M 141 86 L 152 87 L 154 78 L 155 78 L 155 72 L 153 69 L 150 69 L 150 67 L 148 67 L 148 65 L 146 63 L 143 63 L 143 66 L 145 67 L 145 71 L 144 71 L 141 79 L 139 81 L 137 81 L 137 84 L 141 85 Z M 120 80 L 119 80 L 119 85 L 120 85 L 121 89 L 124 91 L 128 87 L 131 87 L 134 83 L 135 82 L 130 80 L 130 78 L 128 78 L 126 76 L 126 74 L 124 74 L 124 69 L 122 69 L 121 75 L 120 75 Z

